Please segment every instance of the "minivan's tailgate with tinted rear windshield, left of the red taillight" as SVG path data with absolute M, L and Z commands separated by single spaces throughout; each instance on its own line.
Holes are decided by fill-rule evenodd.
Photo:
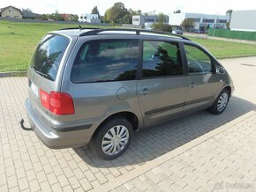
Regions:
M 46 124 L 46 127 L 50 126 L 52 114 L 49 108 L 43 105 L 41 93 L 49 95 L 51 91 L 60 91 L 60 79 L 66 62 L 65 55 L 69 55 L 73 44 L 71 38 L 48 33 L 35 48 L 27 70 L 29 102 L 34 113 Z

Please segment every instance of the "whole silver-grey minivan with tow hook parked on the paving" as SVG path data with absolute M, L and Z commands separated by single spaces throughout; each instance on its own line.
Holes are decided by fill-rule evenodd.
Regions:
M 222 114 L 234 90 L 205 48 L 172 33 L 70 28 L 47 33 L 27 71 L 26 111 L 49 148 L 89 144 L 115 159 L 134 131 L 208 109 Z

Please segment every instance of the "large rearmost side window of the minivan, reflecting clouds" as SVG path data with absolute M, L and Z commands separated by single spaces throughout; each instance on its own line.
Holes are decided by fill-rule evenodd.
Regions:
M 88 41 L 79 48 L 72 66 L 73 83 L 125 81 L 136 78 L 137 40 Z

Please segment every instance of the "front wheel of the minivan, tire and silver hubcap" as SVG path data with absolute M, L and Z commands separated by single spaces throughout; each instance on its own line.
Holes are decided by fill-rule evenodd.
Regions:
M 228 106 L 230 100 L 230 92 L 227 89 L 223 89 L 215 100 L 215 103 L 208 111 L 212 114 L 222 114 L 225 108 Z

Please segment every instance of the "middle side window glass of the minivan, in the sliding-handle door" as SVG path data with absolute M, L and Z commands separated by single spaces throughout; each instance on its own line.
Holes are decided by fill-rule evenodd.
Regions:
M 177 42 L 143 42 L 142 78 L 182 74 L 182 61 Z

